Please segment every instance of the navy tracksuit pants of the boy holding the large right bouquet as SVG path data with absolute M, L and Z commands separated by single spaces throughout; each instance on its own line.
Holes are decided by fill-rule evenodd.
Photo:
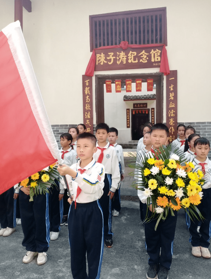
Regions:
M 147 207 L 143 207 L 144 216 L 146 216 Z M 160 264 L 170 269 L 173 255 L 174 235 L 177 224 L 177 211 L 174 211 L 175 216 L 171 216 L 170 210 L 166 220 L 161 220 L 155 231 L 157 219 L 144 223 L 145 244 L 148 255 L 149 265 Z M 149 213 L 151 216 L 151 212 Z M 161 250 L 161 255 L 160 255 Z

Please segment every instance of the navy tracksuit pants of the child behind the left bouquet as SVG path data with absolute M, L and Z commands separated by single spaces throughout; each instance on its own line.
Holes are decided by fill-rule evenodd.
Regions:
M 30 196 L 19 192 L 21 225 L 24 233 L 22 245 L 27 251 L 47 252 L 50 242 L 50 222 L 48 213 L 49 194 Z

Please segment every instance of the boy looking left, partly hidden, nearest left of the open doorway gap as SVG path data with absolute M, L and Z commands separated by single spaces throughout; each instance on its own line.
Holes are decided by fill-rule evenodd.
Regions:
M 124 172 L 125 172 L 124 155 L 123 155 L 122 146 L 116 143 L 117 139 L 118 139 L 118 130 L 114 127 L 111 127 L 109 129 L 108 140 L 109 140 L 109 143 L 112 146 L 114 146 L 114 148 L 116 150 L 117 158 L 119 161 L 119 170 L 120 170 L 120 174 L 121 174 L 121 180 L 123 180 Z M 121 186 L 121 181 L 119 184 L 119 188 L 115 191 L 115 194 L 114 194 L 113 216 L 119 216 L 119 212 L 121 210 L 120 186 Z

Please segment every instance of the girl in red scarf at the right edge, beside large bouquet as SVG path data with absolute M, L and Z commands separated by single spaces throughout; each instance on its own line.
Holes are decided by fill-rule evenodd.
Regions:
M 205 183 L 202 186 L 203 198 L 201 203 L 197 205 L 202 216 L 205 218 L 200 225 L 199 232 L 197 232 L 198 222 L 192 221 L 187 216 L 189 222 L 189 242 L 192 245 L 192 254 L 196 257 L 211 258 L 209 252 L 209 240 L 211 236 L 211 161 L 207 155 L 209 153 L 209 140 L 206 138 L 196 139 L 194 142 L 194 151 L 196 157 L 193 160 L 196 172 L 200 170 L 204 174 Z M 194 172 L 194 170 L 193 170 Z M 201 235 L 201 236 L 200 236 Z

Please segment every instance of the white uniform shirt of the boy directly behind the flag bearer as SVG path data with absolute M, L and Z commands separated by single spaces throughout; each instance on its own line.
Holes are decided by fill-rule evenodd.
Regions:
M 98 143 L 96 143 L 96 147 L 99 147 Z M 110 145 L 110 143 L 107 143 L 103 148 L 106 149 L 103 151 L 102 165 L 104 165 L 105 173 L 111 174 L 112 184 L 110 191 L 115 192 L 116 189 L 118 189 L 120 182 L 119 162 L 116 155 L 116 150 Z M 93 154 L 93 158 L 96 160 L 96 162 L 100 156 L 100 153 L 101 150 L 97 148 L 97 152 Z

